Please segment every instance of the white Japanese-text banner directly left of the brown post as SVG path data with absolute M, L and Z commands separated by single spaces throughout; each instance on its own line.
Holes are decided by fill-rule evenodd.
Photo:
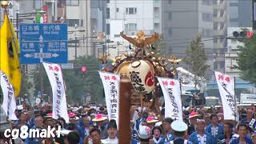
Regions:
M 109 120 L 114 119 L 118 124 L 120 76 L 102 71 L 99 71 L 99 75 L 102 78 Z

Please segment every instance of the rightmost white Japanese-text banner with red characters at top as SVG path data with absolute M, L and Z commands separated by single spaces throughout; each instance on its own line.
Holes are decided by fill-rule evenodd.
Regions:
M 237 120 L 238 113 L 234 97 L 234 78 L 215 71 L 218 90 L 222 98 L 222 106 L 225 120 Z

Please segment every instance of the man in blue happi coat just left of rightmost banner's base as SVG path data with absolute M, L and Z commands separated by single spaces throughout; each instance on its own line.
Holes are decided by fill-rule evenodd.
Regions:
M 211 114 L 210 115 L 210 125 L 206 126 L 206 132 L 210 133 L 214 138 L 214 143 L 218 142 L 218 138 L 224 134 L 223 126 L 218 124 L 218 115 Z

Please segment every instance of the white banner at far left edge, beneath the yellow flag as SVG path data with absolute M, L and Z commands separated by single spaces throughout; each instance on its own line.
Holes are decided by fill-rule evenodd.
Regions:
M 0 70 L 2 87 L 2 108 L 6 112 L 8 119 L 17 120 L 15 115 L 16 102 L 14 97 L 14 87 L 10 84 L 9 78 Z

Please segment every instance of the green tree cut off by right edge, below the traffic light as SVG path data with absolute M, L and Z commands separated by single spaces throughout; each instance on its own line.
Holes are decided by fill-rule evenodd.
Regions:
M 238 53 L 238 70 L 241 70 L 242 79 L 256 85 L 256 36 L 242 40 L 245 46 Z

